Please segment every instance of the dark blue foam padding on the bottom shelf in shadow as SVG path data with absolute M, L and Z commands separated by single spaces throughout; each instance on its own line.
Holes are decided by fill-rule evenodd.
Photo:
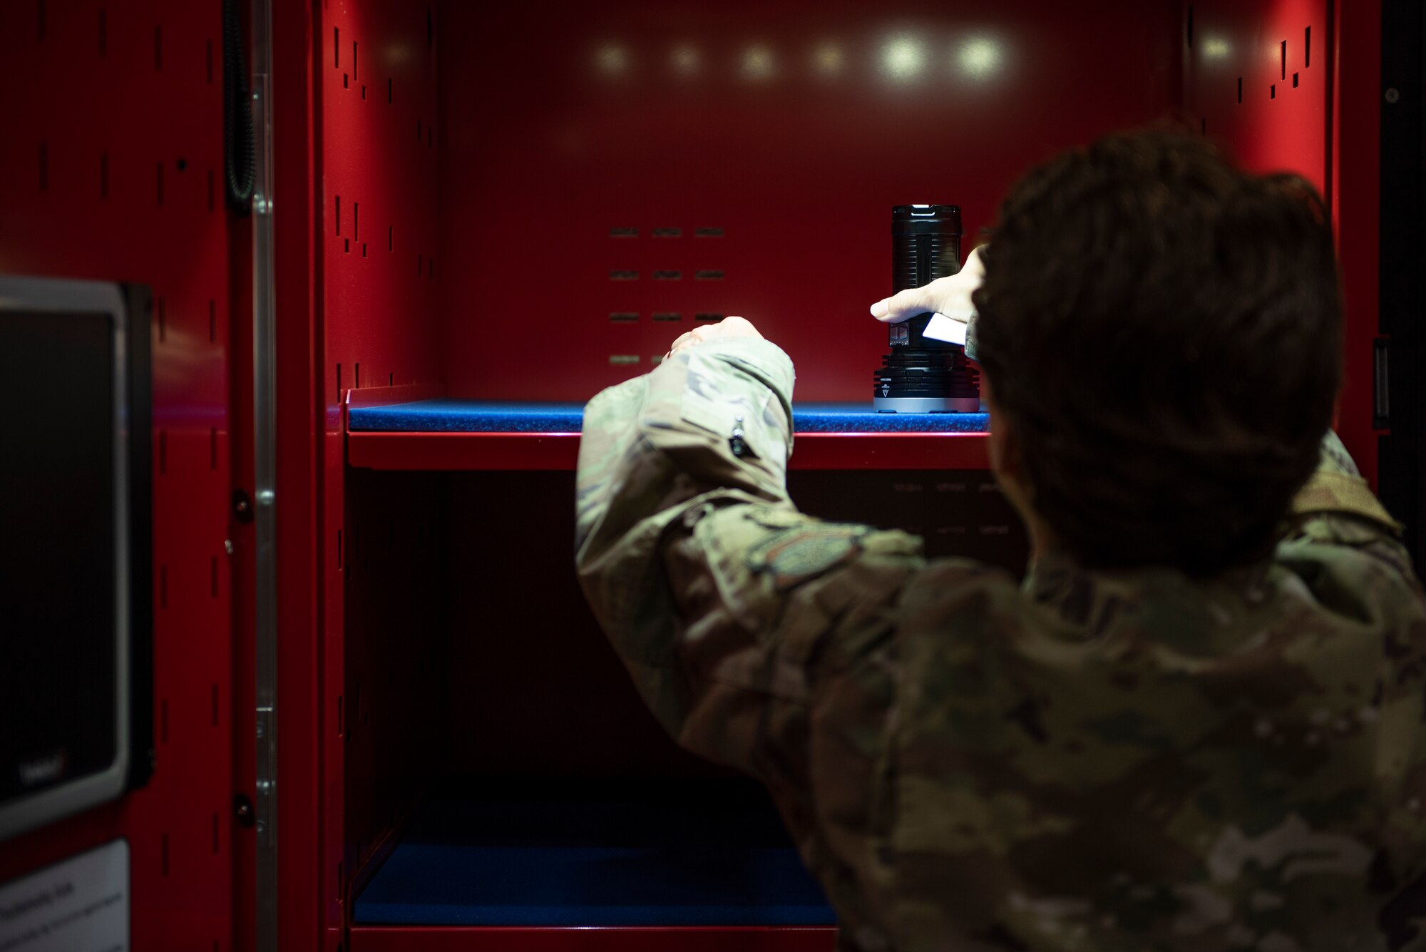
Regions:
M 405 925 L 833 925 L 770 807 L 439 798 L 356 899 Z

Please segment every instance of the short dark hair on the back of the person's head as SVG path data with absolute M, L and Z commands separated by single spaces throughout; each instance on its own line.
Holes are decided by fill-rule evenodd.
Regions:
M 1195 577 L 1271 552 L 1340 382 L 1318 191 L 1115 134 L 1011 188 L 983 259 L 977 356 L 1058 544 Z

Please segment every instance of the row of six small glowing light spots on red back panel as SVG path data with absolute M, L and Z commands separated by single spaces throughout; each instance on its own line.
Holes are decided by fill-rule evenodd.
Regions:
M 927 76 L 934 66 L 930 44 L 908 34 L 894 36 L 883 43 L 877 60 L 880 71 L 894 83 L 913 83 Z M 998 41 L 970 37 L 951 48 L 945 63 L 973 80 L 988 80 L 1002 68 L 1004 60 L 1005 53 Z M 834 77 L 846 70 L 847 54 L 837 43 L 823 43 L 811 51 L 809 61 L 820 76 Z M 633 57 L 626 47 L 609 43 L 596 50 L 595 66 L 606 76 L 625 76 L 633 70 Z M 669 53 L 669 66 L 679 76 L 692 77 L 702 71 L 703 54 L 690 44 L 676 46 Z M 739 74 L 753 83 L 773 78 L 777 67 L 777 54 L 763 44 L 744 47 L 737 58 Z

